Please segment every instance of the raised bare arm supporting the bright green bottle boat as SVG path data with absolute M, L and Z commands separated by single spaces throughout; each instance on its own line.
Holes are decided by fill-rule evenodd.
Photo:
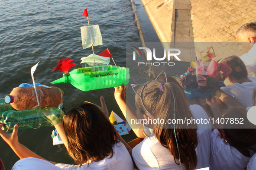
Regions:
M 132 127 L 133 132 L 139 138 L 145 138 L 146 135 L 143 132 L 143 124 L 136 124 L 136 123 L 132 124 L 131 123 L 132 119 L 137 120 L 138 117 L 137 117 L 136 111 L 133 109 L 133 107 L 131 107 L 130 104 L 128 102 L 126 102 L 125 93 L 126 93 L 126 86 L 124 84 L 122 84 L 119 87 L 115 87 L 115 99 L 117 101 L 117 104 L 120 107 L 127 122 Z

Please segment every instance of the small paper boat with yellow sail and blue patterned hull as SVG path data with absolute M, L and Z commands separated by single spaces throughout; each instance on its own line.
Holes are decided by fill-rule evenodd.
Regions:
M 130 133 L 130 130 L 132 129 L 130 125 L 126 123 L 126 121 L 123 121 L 123 119 L 121 119 L 115 112 L 111 112 L 109 120 L 112 124 L 114 122 L 120 123 L 117 125 L 113 124 L 119 135 L 127 135 Z

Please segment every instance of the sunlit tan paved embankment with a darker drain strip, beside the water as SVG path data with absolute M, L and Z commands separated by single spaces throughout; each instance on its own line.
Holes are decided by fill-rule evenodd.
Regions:
M 256 22 L 256 0 L 141 0 L 162 42 L 236 42 L 237 29 Z M 250 15 L 248 15 L 250 14 Z M 189 50 L 188 46 L 186 49 Z M 240 56 L 237 43 L 194 44 L 214 46 L 216 59 Z M 198 59 L 191 54 L 184 61 Z

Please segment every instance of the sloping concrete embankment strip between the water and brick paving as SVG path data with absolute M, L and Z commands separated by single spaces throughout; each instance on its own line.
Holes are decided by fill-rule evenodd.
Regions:
M 182 61 L 196 60 L 190 15 L 190 1 L 141 0 L 147 16 L 165 49 L 178 47 L 182 50 Z M 187 43 L 165 43 L 187 42 Z M 192 51 L 192 52 L 191 52 Z

